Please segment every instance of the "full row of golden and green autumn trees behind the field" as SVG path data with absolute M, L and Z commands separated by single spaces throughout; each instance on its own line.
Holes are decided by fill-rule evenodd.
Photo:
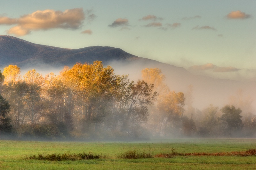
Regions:
M 0 72 L 0 81 L 1 137 L 11 133 L 20 139 L 68 140 L 251 137 L 256 126 L 253 119 L 244 124 L 242 110 L 232 105 L 220 110 L 211 105 L 200 120 L 188 117 L 184 94 L 171 91 L 157 68 L 146 68 L 142 80 L 130 81 L 101 61 L 77 63 L 45 77 L 36 70 L 21 76 L 19 67 L 9 65 Z

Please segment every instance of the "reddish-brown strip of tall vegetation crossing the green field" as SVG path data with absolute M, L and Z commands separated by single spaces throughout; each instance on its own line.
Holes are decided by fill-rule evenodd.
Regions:
M 233 151 L 233 152 L 194 152 L 194 153 L 178 153 L 172 150 L 172 153 L 159 153 L 156 158 L 172 158 L 173 156 L 253 156 L 256 155 L 256 149 L 249 149 L 247 151 Z

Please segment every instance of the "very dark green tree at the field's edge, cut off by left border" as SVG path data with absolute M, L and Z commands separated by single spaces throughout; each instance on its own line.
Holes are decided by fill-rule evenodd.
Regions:
M 7 117 L 9 111 L 9 102 L 0 94 L 0 134 L 12 131 L 11 118 Z

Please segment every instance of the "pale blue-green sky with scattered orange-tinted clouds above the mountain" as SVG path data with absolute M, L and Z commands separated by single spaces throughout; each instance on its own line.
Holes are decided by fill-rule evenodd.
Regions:
M 0 34 L 112 46 L 214 78 L 256 81 L 255 0 L 8 0 Z

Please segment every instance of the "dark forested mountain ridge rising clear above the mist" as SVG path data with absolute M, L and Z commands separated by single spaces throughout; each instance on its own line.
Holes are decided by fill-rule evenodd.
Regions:
M 19 67 L 38 65 L 72 66 L 76 62 L 93 63 L 111 60 L 131 60 L 139 57 L 129 54 L 120 48 L 108 46 L 91 46 L 80 49 L 67 49 L 31 43 L 16 37 L 0 36 L 0 66 L 15 64 Z

